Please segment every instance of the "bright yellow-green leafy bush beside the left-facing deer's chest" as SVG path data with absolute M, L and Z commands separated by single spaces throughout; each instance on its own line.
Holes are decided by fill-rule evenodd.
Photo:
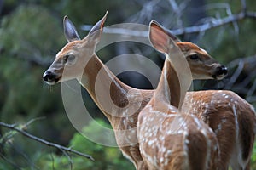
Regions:
M 103 122 L 101 119 L 96 120 L 96 122 L 103 127 L 111 128 L 109 124 Z M 101 134 L 101 128 L 96 127 L 95 123 L 92 122 L 90 122 L 88 127 L 84 127 L 83 131 L 86 133 Z M 133 165 L 122 156 L 119 148 L 95 144 L 89 139 L 84 138 L 80 133 L 74 134 L 70 145 L 73 149 L 84 151 L 95 158 L 95 162 L 90 162 L 88 165 L 83 165 L 83 162 L 80 162 L 78 164 L 80 169 L 133 169 Z

